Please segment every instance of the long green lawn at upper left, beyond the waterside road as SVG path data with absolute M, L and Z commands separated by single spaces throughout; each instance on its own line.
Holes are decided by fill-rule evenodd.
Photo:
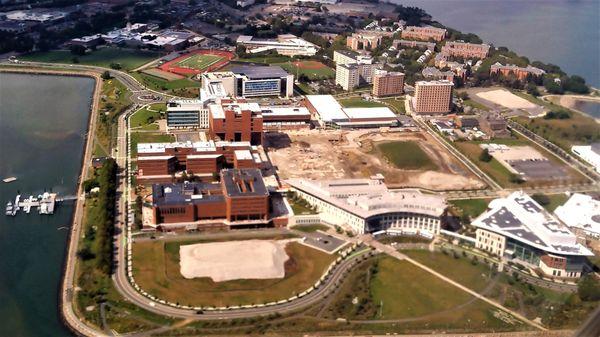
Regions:
M 119 63 L 123 70 L 132 70 L 142 66 L 162 54 L 138 49 L 106 47 L 99 48 L 83 56 L 71 54 L 68 50 L 53 50 L 47 52 L 35 52 L 20 56 L 24 61 L 48 62 L 48 63 L 73 63 L 77 57 L 80 64 L 94 65 L 109 68 L 111 63 Z

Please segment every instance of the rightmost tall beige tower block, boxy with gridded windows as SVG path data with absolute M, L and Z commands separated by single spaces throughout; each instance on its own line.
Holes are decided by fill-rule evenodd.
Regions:
M 418 81 L 415 83 L 414 112 L 421 115 L 450 112 L 453 87 L 454 84 L 447 80 Z

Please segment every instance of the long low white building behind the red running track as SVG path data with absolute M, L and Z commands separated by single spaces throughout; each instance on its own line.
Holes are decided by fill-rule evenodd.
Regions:
M 248 35 L 240 35 L 236 41 L 246 47 L 248 53 L 261 53 L 275 50 L 280 55 L 314 56 L 319 46 L 292 34 L 282 34 L 277 39 L 256 39 Z

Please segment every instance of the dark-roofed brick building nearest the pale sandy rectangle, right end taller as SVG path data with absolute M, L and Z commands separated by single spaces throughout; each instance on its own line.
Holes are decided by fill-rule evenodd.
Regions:
M 269 191 L 258 169 L 226 169 L 219 183 L 155 184 L 152 224 L 164 229 L 269 223 Z

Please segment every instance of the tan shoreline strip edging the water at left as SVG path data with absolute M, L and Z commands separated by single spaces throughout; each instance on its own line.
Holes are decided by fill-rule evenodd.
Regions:
M 76 193 L 77 196 L 82 195 L 83 182 L 87 179 L 88 170 L 87 168 L 91 165 L 92 153 L 93 153 L 93 135 L 96 130 L 96 121 L 98 117 L 100 93 L 102 91 L 102 78 L 98 72 L 86 70 L 55 70 L 55 69 L 44 69 L 40 68 L 21 68 L 21 67 L 0 67 L 0 72 L 13 73 L 13 74 L 30 74 L 30 75 L 51 75 L 51 76 L 73 76 L 73 77 L 87 77 L 94 80 L 94 91 L 92 92 L 92 102 L 90 104 L 90 110 L 87 121 L 87 137 L 84 140 L 84 151 L 81 157 L 81 169 L 79 170 L 79 178 L 77 180 Z M 60 280 L 60 290 L 58 298 L 58 306 L 60 311 L 60 321 L 68 328 L 72 333 L 78 336 L 88 336 L 89 333 L 97 334 L 97 332 L 85 325 L 85 323 L 79 320 L 79 317 L 73 310 L 73 288 L 75 278 L 75 263 L 77 257 L 75 252 L 79 245 L 79 237 L 81 233 L 81 223 L 83 220 L 83 201 L 77 199 L 72 215 L 71 215 L 71 229 L 67 237 L 67 245 L 65 247 L 65 259 L 62 265 L 62 273 Z M 74 321 L 76 320 L 76 321 Z

